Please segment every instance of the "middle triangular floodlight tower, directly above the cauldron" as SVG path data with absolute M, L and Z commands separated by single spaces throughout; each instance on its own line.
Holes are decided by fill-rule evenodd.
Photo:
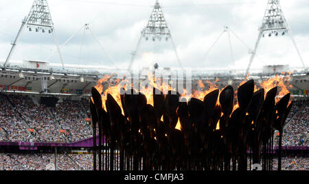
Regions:
M 177 61 L 179 62 L 179 65 L 181 68 L 183 68 L 181 61 L 179 60 L 179 56 L 176 51 L 176 46 L 174 44 L 174 41 L 172 40 L 172 35 L 170 34 L 170 29 L 168 29 L 168 24 L 165 21 L 161 5 L 159 4 L 159 1 L 157 0 L 155 3 L 155 7 L 152 10 L 152 14 L 149 18 L 147 26 L 141 31 L 141 36 L 139 38 L 139 42 L 137 43 L 137 47 L 135 51 L 132 53 L 132 60 L 130 62 L 130 65 L 128 67 L 128 70 L 131 69 L 133 62 L 135 60 L 135 57 L 137 56 L 137 52 L 139 51 L 139 47 L 141 44 L 141 40 L 145 39 L 146 41 L 148 40 L 171 40 L 175 55 L 177 58 Z

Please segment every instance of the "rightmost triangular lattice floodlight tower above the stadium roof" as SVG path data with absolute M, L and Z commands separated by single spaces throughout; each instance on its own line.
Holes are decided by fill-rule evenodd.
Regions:
M 293 38 L 292 32 L 290 31 L 290 27 L 288 27 L 288 23 L 286 22 L 286 18 L 284 18 L 284 14 L 282 12 L 282 8 L 280 6 L 279 0 L 268 0 L 267 8 L 264 14 L 264 18 L 262 21 L 262 26 L 260 27 L 260 32 L 258 36 L 257 42 L 255 42 L 255 47 L 252 52 L 249 66 L 247 68 L 246 75 L 249 74 L 250 66 L 253 62 L 253 59 L 255 57 L 255 53 L 258 49 L 258 45 L 260 43 L 261 38 L 268 36 L 284 36 L 286 33 L 289 34 L 295 49 L 297 50 L 297 53 L 299 55 L 299 58 L 304 66 L 304 69 L 306 70 L 306 66 L 304 64 L 303 59 L 301 58 L 301 55 L 299 53 L 299 50 L 297 48 L 297 44 Z

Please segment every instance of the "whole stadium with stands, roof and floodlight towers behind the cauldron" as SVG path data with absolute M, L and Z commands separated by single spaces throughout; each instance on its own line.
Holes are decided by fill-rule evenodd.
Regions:
M 30 14 L 23 20 L 7 59 L 0 62 L 0 170 L 93 170 L 93 124 L 89 110 L 91 88 L 102 85 L 106 90 L 108 86 L 113 86 L 115 80 L 122 79 L 122 73 L 131 69 L 141 47 L 141 39 L 170 40 L 174 46 L 179 66 L 183 68 L 158 1 L 155 3 L 148 24 L 141 31 L 141 37 L 133 52 L 129 67 L 123 70 L 65 64 L 62 61 L 56 35 L 54 35 L 54 40 L 61 60 L 60 65 L 49 61 L 10 60 L 15 47 L 18 47 L 23 31 L 32 29 L 45 30 L 49 34 L 54 34 L 54 23 L 49 13 L 47 0 L 34 0 Z M 225 27 L 224 32 L 229 33 L 229 28 Z M 254 79 L 258 84 L 275 76 L 285 79 L 283 84 L 289 86 L 288 91 L 296 103 L 284 127 L 283 155 L 287 161 L 296 158 L 295 164 L 308 170 L 309 73 L 295 41 L 293 40 L 293 43 L 304 68 L 295 70 L 286 65 L 264 66 L 263 70 L 252 70 L 249 73 L 260 39 L 268 34 L 281 34 L 282 36 L 288 34 L 293 40 L 279 1 L 268 1 L 248 69 L 244 71 L 192 70 L 192 89 L 206 89 L 211 84 L 216 84 L 218 89 L 225 88 L 227 85 L 237 89 L 246 76 L 247 79 Z M 157 69 L 155 66 L 155 68 L 145 68 L 145 70 L 134 72 L 137 73 L 139 79 L 147 79 L 148 76 L 145 73 L 153 73 L 155 70 L 172 73 L 176 69 Z M 98 83 L 99 79 L 106 75 L 111 77 L 104 83 Z M 297 127 L 297 130 L 290 127 Z M 285 134 L 288 137 L 284 137 Z M 99 142 L 98 137 L 95 140 Z M 273 154 L 277 154 L 276 149 Z M 109 153 L 106 152 L 103 156 L 103 159 L 108 159 Z M 37 163 L 33 161 L 19 167 L 23 165 L 25 159 L 37 159 Z M 5 160 L 10 160 L 10 164 Z M 115 163 L 115 166 L 117 164 L 119 163 Z M 290 165 L 289 167 L 293 168 Z M 106 167 L 104 169 L 108 170 Z

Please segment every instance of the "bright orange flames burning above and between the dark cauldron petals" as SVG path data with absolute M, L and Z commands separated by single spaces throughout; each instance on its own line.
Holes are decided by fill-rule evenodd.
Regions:
M 278 91 L 277 91 L 277 96 L 276 96 L 276 99 L 275 99 L 276 103 L 277 103 L 277 101 L 279 101 L 279 98 L 284 96 L 285 94 L 288 94 L 290 92 L 289 89 L 291 89 L 293 87 L 290 84 L 290 75 L 291 75 L 291 73 L 289 73 L 289 72 L 282 73 L 282 75 L 275 75 L 274 77 L 270 77 L 269 79 L 265 79 L 263 81 L 260 81 L 259 86 L 260 86 L 260 88 L 264 88 L 265 96 L 266 96 L 268 90 L 271 90 L 272 88 L 275 88 L 277 86 Z M 120 98 L 120 88 L 124 88 L 124 89 L 128 88 L 128 86 L 121 86 L 120 85 L 120 81 L 122 81 L 120 79 L 116 79 L 113 83 L 110 83 L 109 79 L 111 79 L 111 77 L 112 77 L 112 75 L 105 75 L 102 79 L 98 80 L 97 85 L 95 86 L 95 88 L 98 90 L 98 92 L 100 92 L 100 94 L 102 96 L 102 106 L 105 110 L 106 110 L 105 101 L 107 99 L 107 94 L 111 94 L 113 96 L 113 98 L 115 98 L 115 101 L 117 101 L 119 107 L 122 107 L 122 102 L 121 102 L 121 98 Z M 239 86 L 242 86 L 242 84 L 246 83 L 249 80 L 248 78 L 249 78 L 249 75 L 244 79 L 244 81 L 242 81 L 239 84 Z M 157 88 L 157 89 L 161 90 L 162 92 L 166 92 L 166 91 L 169 91 L 169 90 L 176 91 L 176 89 L 172 88 L 168 83 L 164 83 L 164 82 L 156 83 L 155 81 L 157 81 L 157 79 L 151 73 L 148 74 L 148 80 L 150 81 L 150 86 L 152 86 L 152 88 L 141 87 L 138 91 L 143 93 L 146 96 L 147 103 L 152 105 L 152 106 L 153 106 L 153 90 L 152 90 L 153 88 Z M 199 100 L 203 101 L 204 97 L 209 92 L 212 92 L 214 90 L 219 90 L 219 95 L 220 95 L 220 92 L 224 88 L 219 89 L 218 81 L 220 81 L 220 80 L 216 79 L 216 81 L 214 81 L 214 83 L 212 83 L 209 80 L 206 80 L 206 81 L 198 80 L 198 87 L 201 90 L 194 90 L 194 92 L 192 92 L 192 94 L 189 96 L 189 95 L 187 95 L 187 91 L 184 89 L 183 93 L 181 94 L 181 98 L 186 98 L 187 101 L 189 101 L 190 98 L 198 98 Z M 207 88 L 205 87 L 205 83 L 208 84 Z M 108 86 L 104 86 L 104 85 L 108 85 Z M 131 87 L 133 87 L 133 84 L 131 84 Z M 227 87 L 227 86 L 225 86 L 225 87 Z M 255 83 L 254 92 L 260 90 L 260 88 Z M 235 94 L 237 94 L 237 90 L 235 91 Z M 217 105 L 220 105 L 219 98 L 218 98 L 218 101 L 217 101 Z M 233 106 L 233 111 L 235 109 L 237 109 L 238 107 L 239 107 L 239 105 L 238 105 L 237 99 L 236 99 L 235 104 Z M 124 114 L 123 109 L 122 109 L 122 114 Z M 178 120 L 178 123 L 176 124 L 176 129 L 181 130 L 181 124 L 180 124 L 179 120 Z M 219 123 L 217 123 L 216 129 L 220 129 Z

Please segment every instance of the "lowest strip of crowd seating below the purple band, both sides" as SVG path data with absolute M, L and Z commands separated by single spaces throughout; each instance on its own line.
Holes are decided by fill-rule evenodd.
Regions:
M 105 155 L 103 159 L 106 159 Z M 55 155 L 46 153 L 0 154 L 0 170 L 49 170 L 47 169 L 49 163 L 56 163 L 56 170 L 93 170 L 93 155 Z M 250 163 L 250 160 L 248 160 L 248 170 L 250 170 Z M 115 166 L 116 170 L 119 170 L 119 168 L 117 168 L 117 166 L 119 166 L 117 160 L 115 160 Z M 273 159 L 273 170 L 277 170 L 277 167 L 277 159 Z M 105 168 L 106 167 L 104 166 L 104 170 Z M 252 168 L 253 163 L 251 163 L 251 170 Z M 283 157 L 282 170 L 309 170 L 309 157 L 299 157 L 294 155 Z

